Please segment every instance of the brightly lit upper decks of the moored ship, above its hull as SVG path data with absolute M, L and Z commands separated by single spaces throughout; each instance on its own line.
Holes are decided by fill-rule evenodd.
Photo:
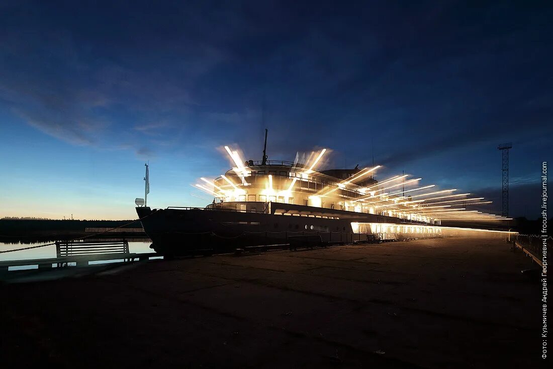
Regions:
M 435 223 L 434 218 L 411 211 L 361 201 L 377 191 L 378 182 L 357 168 L 317 171 L 291 161 L 249 160 L 241 168 L 233 168 L 216 178 L 214 184 L 224 193 L 215 203 L 280 203 Z

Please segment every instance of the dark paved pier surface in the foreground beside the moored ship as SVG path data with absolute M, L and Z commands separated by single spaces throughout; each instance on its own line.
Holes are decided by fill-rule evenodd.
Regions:
M 4 367 L 537 367 L 540 285 L 520 273 L 530 268 L 502 240 L 450 238 L 6 283 L 0 357 Z

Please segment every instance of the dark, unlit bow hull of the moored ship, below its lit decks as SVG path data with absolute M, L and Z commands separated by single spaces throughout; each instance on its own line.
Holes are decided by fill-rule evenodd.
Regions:
M 285 244 L 295 235 L 317 235 L 323 243 L 353 240 L 351 222 L 283 216 L 268 213 L 228 212 L 217 209 L 136 208 L 152 248 L 163 255 L 186 255 L 197 250 L 230 252 L 236 248 Z

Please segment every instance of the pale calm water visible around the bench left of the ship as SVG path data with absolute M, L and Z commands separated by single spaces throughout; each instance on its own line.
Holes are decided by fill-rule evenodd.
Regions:
M 104 240 L 121 240 L 121 238 L 104 239 Z M 152 241 L 149 238 L 132 238 L 132 239 L 127 238 L 127 240 L 129 241 L 129 251 L 131 253 L 143 254 L 143 253 L 153 252 L 153 250 L 150 249 L 150 244 L 152 243 Z M 22 242 L 2 243 L 2 242 L 0 242 L 0 251 L 38 246 L 38 245 L 43 245 L 43 244 L 48 244 L 48 243 L 53 243 L 53 242 L 56 242 L 56 240 L 45 241 L 45 242 L 36 242 L 36 243 L 22 243 Z M 21 251 L 9 252 L 9 253 L 1 253 L 0 254 L 0 261 L 55 258 L 55 257 L 56 257 L 56 245 L 50 245 L 50 246 L 39 247 L 39 248 L 35 248 L 35 249 L 30 249 L 30 250 L 21 250 Z

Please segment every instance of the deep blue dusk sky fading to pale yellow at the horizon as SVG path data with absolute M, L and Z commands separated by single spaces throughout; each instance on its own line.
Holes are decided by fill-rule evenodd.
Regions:
M 551 161 L 546 2 L 0 3 L 0 217 L 134 219 L 190 183 L 329 148 L 322 168 L 486 196 L 538 218 Z M 522 2 L 518 2 L 522 4 Z M 200 198 L 201 197 L 201 198 Z

